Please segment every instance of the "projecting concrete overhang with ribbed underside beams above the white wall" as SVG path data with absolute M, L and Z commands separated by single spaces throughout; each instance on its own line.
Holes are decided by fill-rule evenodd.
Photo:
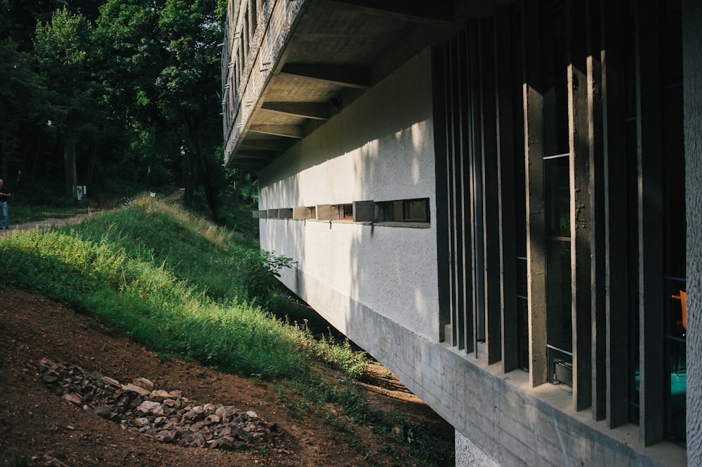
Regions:
M 244 70 L 235 117 L 225 129 L 225 165 L 265 166 L 411 56 L 440 44 L 468 18 L 496 3 L 500 2 L 270 2 L 273 20 L 266 19 L 263 37 L 258 45 L 251 44 L 249 63 L 254 65 Z M 278 16 L 289 21 L 287 29 L 275 29 L 275 8 L 287 8 L 286 16 Z M 294 17 L 290 11 L 295 11 Z

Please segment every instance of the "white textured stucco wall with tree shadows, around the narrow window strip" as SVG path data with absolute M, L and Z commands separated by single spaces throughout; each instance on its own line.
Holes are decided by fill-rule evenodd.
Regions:
M 259 173 L 259 209 L 430 199 L 430 228 L 260 221 L 261 248 L 298 261 L 284 283 L 352 339 L 357 305 L 439 339 L 433 152 L 425 51 Z

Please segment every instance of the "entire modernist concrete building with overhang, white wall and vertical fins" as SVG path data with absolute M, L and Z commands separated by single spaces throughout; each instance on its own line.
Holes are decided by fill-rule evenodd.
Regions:
M 224 43 L 262 248 L 456 465 L 702 465 L 702 2 L 230 0 Z

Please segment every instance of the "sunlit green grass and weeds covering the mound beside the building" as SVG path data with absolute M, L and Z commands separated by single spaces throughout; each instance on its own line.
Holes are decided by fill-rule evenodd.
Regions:
M 37 212 L 41 209 L 37 209 Z M 48 212 L 48 211 L 45 211 Z M 52 217 L 72 216 L 67 210 Z M 250 216 L 250 214 L 249 214 Z M 163 360 L 180 357 L 220 371 L 275 381 L 291 416 L 329 404 L 344 418 L 330 423 L 372 465 L 379 453 L 364 447 L 355 426 L 372 426 L 382 455 L 411 452 L 418 466 L 446 465 L 423 436 L 397 414 L 372 409 L 355 385 L 369 363 L 348 341 L 315 339 L 306 324 L 289 323 L 286 294 L 277 281 L 289 258 L 258 249 L 253 223 L 223 228 L 177 204 L 138 197 L 77 225 L 29 230 L 0 239 L 4 284 L 67 303 L 112 331 L 128 334 Z M 273 313 L 275 312 L 275 313 Z M 345 374 L 329 381 L 312 370 L 324 362 Z M 286 391 L 296 397 L 286 398 Z M 404 427 L 397 436 L 393 427 Z M 409 428 L 408 428 L 409 427 Z

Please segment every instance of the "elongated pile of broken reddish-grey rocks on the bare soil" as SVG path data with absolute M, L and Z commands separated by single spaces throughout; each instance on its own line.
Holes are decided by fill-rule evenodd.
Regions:
M 276 424 L 259 419 L 256 412 L 197 404 L 180 390 L 154 389 L 145 378 L 121 384 L 96 371 L 46 358 L 38 369 L 41 380 L 63 399 L 154 440 L 185 447 L 289 453 Z

